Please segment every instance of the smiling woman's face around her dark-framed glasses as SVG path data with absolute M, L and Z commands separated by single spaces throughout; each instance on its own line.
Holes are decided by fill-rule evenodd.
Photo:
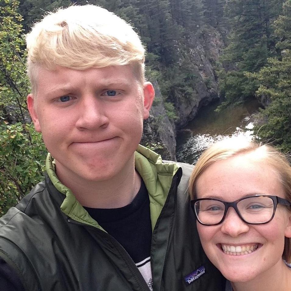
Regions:
M 277 173 L 254 155 L 242 154 L 215 162 L 197 180 L 197 198 L 218 198 L 226 202 L 242 197 L 265 194 L 285 197 Z M 229 208 L 219 225 L 201 225 L 197 222 L 202 246 L 210 261 L 232 282 L 246 282 L 267 275 L 282 264 L 284 236 L 291 237 L 291 215 L 278 204 L 271 222 L 261 225 L 244 223 L 235 210 Z M 248 254 L 240 251 L 253 250 Z

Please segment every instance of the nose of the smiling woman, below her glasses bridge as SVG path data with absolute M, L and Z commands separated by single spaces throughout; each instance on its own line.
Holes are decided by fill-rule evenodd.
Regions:
M 230 207 L 221 225 L 221 231 L 232 237 L 237 237 L 242 233 L 248 232 L 249 225 L 243 222 L 234 208 Z

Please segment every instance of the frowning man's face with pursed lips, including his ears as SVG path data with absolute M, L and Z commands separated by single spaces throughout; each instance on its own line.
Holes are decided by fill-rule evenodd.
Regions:
M 154 98 L 150 83 L 142 87 L 129 65 L 84 71 L 58 66 L 39 69 L 37 78 L 28 108 L 59 178 L 105 181 L 133 166 Z

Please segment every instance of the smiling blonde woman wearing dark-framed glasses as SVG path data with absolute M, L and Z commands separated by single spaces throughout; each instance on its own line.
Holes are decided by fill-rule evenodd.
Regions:
M 202 246 L 230 281 L 226 290 L 291 290 L 291 168 L 277 150 L 218 142 L 201 155 L 189 190 Z

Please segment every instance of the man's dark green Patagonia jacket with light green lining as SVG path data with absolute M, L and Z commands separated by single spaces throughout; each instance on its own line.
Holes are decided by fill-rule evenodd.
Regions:
M 135 166 L 150 198 L 154 291 L 224 290 L 225 279 L 202 250 L 186 199 L 192 166 L 165 163 L 141 146 Z M 149 290 L 123 247 L 60 183 L 50 154 L 45 181 L 0 219 L 0 257 L 27 291 Z

